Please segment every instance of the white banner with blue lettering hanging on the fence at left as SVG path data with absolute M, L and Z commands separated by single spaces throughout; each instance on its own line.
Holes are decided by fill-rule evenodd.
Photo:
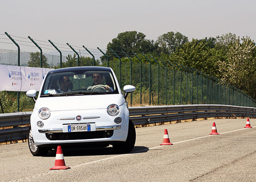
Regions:
M 50 70 L 53 68 L 0 65 L 0 91 L 39 91 Z

